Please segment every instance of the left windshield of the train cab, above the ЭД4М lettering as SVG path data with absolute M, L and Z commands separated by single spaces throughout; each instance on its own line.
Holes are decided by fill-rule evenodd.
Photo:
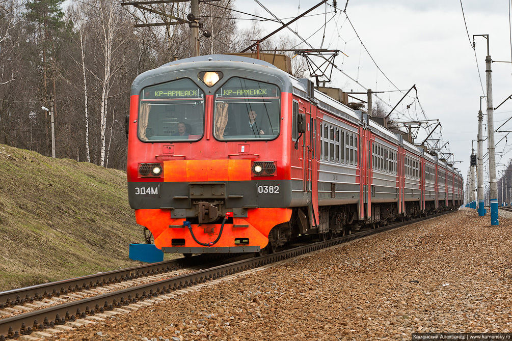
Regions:
M 142 141 L 199 140 L 203 135 L 204 94 L 190 79 L 142 89 L 138 135 Z

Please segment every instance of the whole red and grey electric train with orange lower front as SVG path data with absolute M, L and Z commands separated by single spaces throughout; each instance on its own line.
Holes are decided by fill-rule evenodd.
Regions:
M 167 253 L 274 252 L 463 200 L 451 165 L 258 59 L 139 75 L 127 129 L 130 205 Z

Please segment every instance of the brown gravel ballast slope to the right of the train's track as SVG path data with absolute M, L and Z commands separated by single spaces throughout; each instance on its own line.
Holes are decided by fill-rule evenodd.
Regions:
M 500 211 L 500 215 L 502 212 Z M 410 340 L 511 332 L 512 214 L 405 226 L 177 295 L 62 340 Z

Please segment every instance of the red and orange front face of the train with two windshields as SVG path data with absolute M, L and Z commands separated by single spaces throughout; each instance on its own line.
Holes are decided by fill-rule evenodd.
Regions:
M 258 252 L 292 214 L 291 85 L 268 63 L 208 57 L 134 81 L 130 205 L 164 252 Z

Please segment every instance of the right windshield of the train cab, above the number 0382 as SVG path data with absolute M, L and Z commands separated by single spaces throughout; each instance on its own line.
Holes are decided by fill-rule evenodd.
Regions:
M 218 140 L 272 140 L 279 135 L 278 86 L 231 78 L 215 94 L 214 135 Z

